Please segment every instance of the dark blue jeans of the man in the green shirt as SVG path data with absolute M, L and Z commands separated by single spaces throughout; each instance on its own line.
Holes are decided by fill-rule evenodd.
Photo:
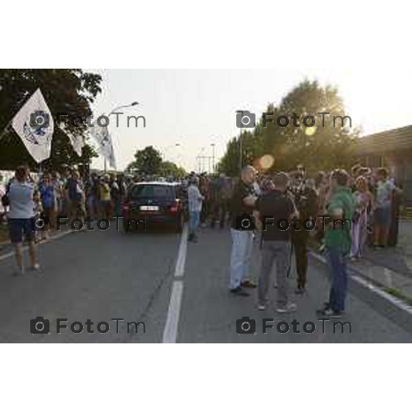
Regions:
M 326 249 L 328 264 L 330 266 L 330 308 L 335 312 L 345 310 L 345 297 L 347 290 L 347 255 L 338 249 Z

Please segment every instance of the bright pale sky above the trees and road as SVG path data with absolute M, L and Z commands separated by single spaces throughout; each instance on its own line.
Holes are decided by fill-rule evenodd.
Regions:
M 197 170 L 198 155 L 215 161 L 224 154 L 227 141 L 238 134 L 236 110 L 257 113 L 269 102 L 278 103 L 305 78 L 317 79 L 339 89 L 352 126 L 364 134 L 412 123 L 412 85 L 407 69 L 379 66 L 354 69 L 87 69 L 102 75 L 102 93 L 93 104 L 95 116 L 109 113 L 121 104 L 139 102 L 111 117 L 117 169 L 133 160 L 136 150 L 155 146 L 165 159 Z M 127 116 L 144 116 L 137 128 L 127 127 Z M 214 144 L 214 146 L 211 146 Z M 203 161 L 205 170 L 212 159 Z M 93 161 L 102 168 L 102 157 Z

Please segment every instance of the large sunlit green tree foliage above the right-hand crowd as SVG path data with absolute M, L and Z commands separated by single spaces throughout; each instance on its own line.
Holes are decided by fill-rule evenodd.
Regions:
M 334 126 L 333 116 L 345 116 L 345 108 L 338 91 L 330 86 L 321 87 L 317 81 L 304 80 L 290 91 L 279 106 L 269 104 L 266 112 L 273 112 L 273 123 L 264 127 L 263 118 L 253 132 L 242 133 L 242 165 L 253 164 L 262 155 L 274 159 L 269 172 L 293 170 L 298 163 L 304 163 L 309 171 L 331 168 L 347 168 L 353 160 L 353 143 L 358 130 L 345 126 L 341 128 L 338 119 Z M 328 112 L 323 116 L 317 113 Z M 293 113 L 299 116 L 300 127 L 293 126 Z M 279 127 L 276 119 L 286 115 L 290 119 L 288 127 Z M 303 118 L 312 115 L 316 119 L 315 128 L 306 128 Z M 314 131 L 313 134 L 310 132 Z M 219 170 L 236 176 L 239 174 L 239 137 L 233 137 L 227 144 L 225 156 Z

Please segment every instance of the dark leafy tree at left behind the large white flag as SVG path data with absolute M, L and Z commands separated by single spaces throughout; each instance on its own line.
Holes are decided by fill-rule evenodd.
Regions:
M 90 104 L 100 93 L 102 78 L 95 73 L 87 73 L 80 69 L 3 69 L 0 71 L 0 133 L 19 111 L 25 101 L 36 89 L 40 88 L 54 116 L 54 134 L 52 140 L 52 156 L 44 162 L 45 168 L 58 168 L 63 164 L 90 163 L 97 156 L 89 145 L 83 149 L 82 157 L 78 157 L 71 148 L 65 133 L 58 126 L 65 125 L 67 130 L 86 139 L 87 126 L 75 128 L 65 123 L 61 114 L 82 117 L 92 115 Z M 20 137 L 10 130 L 0 140 L 0 169 L 12 169 L 21 163 L 37 168 L 27 152 Z

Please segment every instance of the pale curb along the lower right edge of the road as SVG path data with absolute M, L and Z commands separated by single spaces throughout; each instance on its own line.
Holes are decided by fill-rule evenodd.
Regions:
M 310 251 L 309 255 L 318 262 L 326 264 L 323 256 L 313 251 Z M 390 295 L 377 284 L 372 283 L 358 268 L 348 266 L 348 274 L 348 286 L 351 293 L 412 334 L 412 306 L 405 304 L 401 299 Z

